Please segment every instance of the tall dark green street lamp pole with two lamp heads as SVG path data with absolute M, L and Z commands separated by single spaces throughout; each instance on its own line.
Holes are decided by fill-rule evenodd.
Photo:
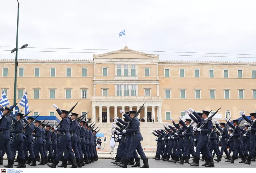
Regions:
M 18 50 L 24 49 L 28 44 L 24 44 L 21 48 L 18 49 L 18 34 L 19 34 L 19 1 L 18 2 L 18 16 L 17 16 L 17 32 L 16 32 L 16 47 L 11 51 L 11 53 L 15 52 L 15 76 L 14 76 L 14 98 L 13 98 L 13 105 L 16 104 L 16 90 L 17 90 L 17 67 L 18 67 Z

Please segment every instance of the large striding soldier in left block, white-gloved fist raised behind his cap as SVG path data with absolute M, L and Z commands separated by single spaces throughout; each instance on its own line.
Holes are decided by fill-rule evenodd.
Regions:
M 50 168 L 56 168 L 65 150 L 67 150 L 68 155 L 71 158 L 72 165 L 76 165 L 75 155 L 71 147 L 71 135 L 69 133 L 70 119 L 65 118 L 65 115 L 68 113 L 68 111 L 60 110 L 58 107 L 56 107 L 56 110 L 58 114 L 60 114 L 60 117 L 62 118 L 59 128 L 54 127 L 55 130 L 60 131 L 61 145 L 59 146 L 58 154 L 54 158 L 53 163 L 51 165 L 47 163 L 47 165 Z

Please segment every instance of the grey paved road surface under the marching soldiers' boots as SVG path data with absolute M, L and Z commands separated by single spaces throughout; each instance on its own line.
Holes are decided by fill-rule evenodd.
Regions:
M 117 165 L 114 165 L 110 163 L 111 159 L 99 159 L 97 162 L 91 163 L 89 165 L 83 166 L 83 168 L 120 168 Z M 190 160 L 192 162 L 192 160 Z M 231 163 L 226 163 L 225 160 L 221 162 L 214 162 L 215 167 L 214 168 L 256 168 L 256 162 L 252 162 L 251 165 L 246 165 L 246 164 L 239 164 L 238 162 L 240 159 L 235 161 L 235 164 Z M 4 160 L 4 165 L 7 164 L 7 160 Z M 15 162 L 16 164 L 16 162 Z M 61 163 L 60 163 L 61 164 Z M 143 165 L 142 160 L 140 160 L 140 164 Z M 150 168 L 205 168 L 204 166 L 199 166 L 199 167 L 193 167 L 190 166 L 189 164 L 174 164 L 172 162 L 166 162 L 166 161 L 158 161 L 158 160 L 153 160 L 153 159 L 148 159 L 148 164 Z M 203 161 L 200 161 L 200 165 L 204 164 Z M 70 167 L 70 165 L 68 165 Z M 3 168 L 3 165 L 0 165 L 0 168 Z M 14 166 L 15 168 L 15 166 Z M 47 165 L 37 165 L 37 166 L 29 166 L 26 165 L 26 168 L 49 168 Z M 58 167 L 57 167 L 58 168 Z M 128 166 L 128 168 L 132 168 L 131 166 Z M 64 169 L 64 168 L 59 168 L 59 169 Z M 121 168 L 122 169 L 122 168 Z M 138 169 L 138 168 L 132 168 L 132 169 Z

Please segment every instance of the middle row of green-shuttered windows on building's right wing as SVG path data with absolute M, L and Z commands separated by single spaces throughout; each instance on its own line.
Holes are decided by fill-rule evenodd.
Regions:
M 215 90 L 210 90 L 210 99 L 215 99 L 216 93 Z M 170 99 L 171 98 L 171 90 L 165 89 L 165 98 Z M 186 99 L 186 90 L 180 90 L 180 98 Z M 201 90 L 195 90 L 195 98 L 200 99 L 201 98 Z M 224 90 L 224 98 L 230 99 L 230 90 Z M 238 98 L 244 99 L 244 90 L 238 90 Z M 252 98 L 256 99 L 256 90 L 252 90 Z

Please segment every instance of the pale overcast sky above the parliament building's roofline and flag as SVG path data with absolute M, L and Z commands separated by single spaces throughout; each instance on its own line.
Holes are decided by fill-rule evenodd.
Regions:
M 0 46 L 16 44 L 17 4 L 16 0 L 0 0 Z M 255 0 L 20 0 L 18 45 L 116 50 L 122 49 L 126 42 L 129 48 L 142 51 L 256 54 L 255 9 Z M 124 29 L 126 36 L 118 37 Z M 26 50 L 108 52 L 29 47 Z M 0 47 L 0 50 L 12 48 Z M 149 53 L 160 54 L 161 60 L 256 61 L 256 58 Z M 15 54 L 0 51 L 0 59 L 5 58 L 14 59 Z M 19 51 L 18 58 L 92 59 L 92 53 Z

